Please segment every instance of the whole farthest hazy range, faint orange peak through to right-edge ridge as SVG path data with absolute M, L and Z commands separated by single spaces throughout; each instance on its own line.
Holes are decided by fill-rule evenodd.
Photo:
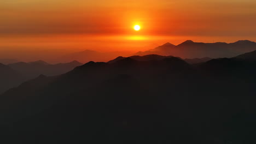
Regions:
M 151 46 L 150 46 L 151 47 Z M 87 63 L 89 61 L 108 62 L 118 56 L 144 56 L 144 55 L 161 55 L 176 56 L 187 59 L 190 63 L 199 63 L 209 60 L 209 58 L 235 57 L 242 53 L 256 50 L 256 43 L 249 40 L 239 40 L 235 43 L 195 43 L 187 40 L 182 44 L 173 45 L 166 43 L 147 51 L 132 52 L 98 52 L 95 50 L 84 50 L 80 52 L 69 53 L 67 55 L 56 57 L 56 62 L 79 61 Z M 1 62 L 1 61 L 0 61 Z

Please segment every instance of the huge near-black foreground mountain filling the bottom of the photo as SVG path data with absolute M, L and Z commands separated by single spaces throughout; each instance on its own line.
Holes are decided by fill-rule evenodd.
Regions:
M 1 95 L 1 141 L 255 143 L 255 66 L 119 57 L 40 75 Z

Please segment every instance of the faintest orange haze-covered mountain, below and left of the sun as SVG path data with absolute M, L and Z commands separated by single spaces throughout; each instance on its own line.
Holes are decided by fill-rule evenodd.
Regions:
M 113 59 L 118 56 L 124 56 L 126 55 L 123 52 L 97 52 L 97 51 L 92 51 L 92 50 L 85 50 L 82 52 L 76 52 L 76 53 L 71 53 L 69 55 L 65 55 L 61 57 L 60 59 L 65 60 L 65 61 L 72 61 L 72 60 L 77 60 L 79 62 L 87 63 L 89 61 L 96 61 L 96 62 L 107 62 L 110 59 Z

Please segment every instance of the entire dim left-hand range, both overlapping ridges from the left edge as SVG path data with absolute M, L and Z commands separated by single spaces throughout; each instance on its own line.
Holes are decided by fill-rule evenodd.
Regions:
M 39 75 L 60 75 L 67 73 L 79 65 L 82 65 L 82 63 L 77 61 L 58 64 L 49 64 L 44 61 L 18 62 L 8 65 L 0 63 L 0 94 Z

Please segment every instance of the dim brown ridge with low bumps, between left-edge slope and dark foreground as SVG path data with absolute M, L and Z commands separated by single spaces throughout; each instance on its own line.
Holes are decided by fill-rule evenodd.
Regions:
M 77 61 L 72 61 L 69 63 L 59 63 L 59 64 L 49 64 L 44 61 L 35 62 L 18 62 L 9 64 L 9 67 L 19 71 L 21 74 L 28 77 L 28 79 L 39 76 L 40 74 L 46 76 L 60 75 L 66 73 L 75 67 L 82 65 Z

